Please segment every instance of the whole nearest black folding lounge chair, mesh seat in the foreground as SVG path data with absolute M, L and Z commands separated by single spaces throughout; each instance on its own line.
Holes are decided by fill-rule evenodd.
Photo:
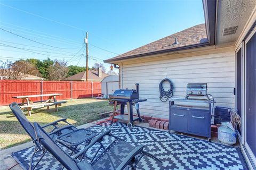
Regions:
M 111 142 L 108 147 L 104 148 L 103 152 L 101 152 L 91 163 L 88 163 L 83 159 L 83 155 L 87 151 L 87 148 L 81 150 L 76 155 L 71 157 L 70 155 L 66 154 L 66 152 L 64 152 L 58 146 L 58 144 L 51 139 L 49 134 L 47 134 L 36 122 L 34 123 L 34 129 L 38 142 L 41 143 L 44 149 L 48 150 L 60 162 L 63 168 L 68 170 L 122 170 L 127 166 L 130 166 L 132 169 L 136 169 L 136 165 L 143 155 L 148 155 L 149 157 L 161 162 L 161 160 L 157 159 L 155 156 L 143 151 L 143 145 L 133 147 L 124 140 L 114 137 L 109 133 L 109 135 L 114 137 L 115 140 Z M 92 145 L 94 145 L 95 141 L 97 140 L 98 139 L 95 139 L 93 142 L 91 142 Z M 89 145 L 91 145 L 91 143 Z

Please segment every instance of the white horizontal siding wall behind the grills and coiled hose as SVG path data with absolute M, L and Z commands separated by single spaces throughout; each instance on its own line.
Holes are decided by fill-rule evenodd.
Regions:
M 135 88 L 135 83 L 139 83 L 140 98 L 147 98 L 147 101 L 140 103 L 142 115 L 168 118 L 169 102 L 163 103 L 159 99 L 158 87 L 165 77 L 173 83 L 174 97 L 186 96 L 187 83 L 206 82 L 209 94 L 217 101 L 215 106 L 235 105 L 234 52 L 123 63 L 123 88 L 132 89 Z M 164 87 L 168 86 L 169 84 L 164 84 Z

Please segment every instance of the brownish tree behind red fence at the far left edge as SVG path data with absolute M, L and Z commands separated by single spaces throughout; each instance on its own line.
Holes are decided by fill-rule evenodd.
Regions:
M 28 74 L 40 76 L 36 66 L 24 60 L 14 63 L 11 61 L 0 62 L 0 76 L 2 77 L 6 77 L 9 80 L 19 80 Z

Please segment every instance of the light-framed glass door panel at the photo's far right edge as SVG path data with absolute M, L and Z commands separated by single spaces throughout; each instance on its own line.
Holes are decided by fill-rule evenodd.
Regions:
M 245 40 L 245 147 L 256 163 L 256 28 Z

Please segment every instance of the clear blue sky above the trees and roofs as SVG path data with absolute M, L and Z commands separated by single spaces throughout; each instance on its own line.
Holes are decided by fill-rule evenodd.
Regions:
M 201 23 L 202 0 L 0 1 L 0 60 L 49 57 L 85 66 L 88 32 L 91 67 Z

